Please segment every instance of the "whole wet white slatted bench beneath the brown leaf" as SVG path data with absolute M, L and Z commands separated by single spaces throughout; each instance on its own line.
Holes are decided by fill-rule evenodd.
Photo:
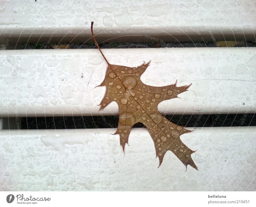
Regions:
M 209 30 L 218 40 L 254 38 L 256 12 L 251 11 L 248 2 L 198 5 L 173 1 L 166 5 L 157 1 L 156 5 L 147 6 L 143 6 L 146 2 L 127 2 L 122 12 L 115 9 L 121 8 L 115 1 L 108 8 L 101 2 L 89 2 L 87 7 L 82 2 L 62 2 L 66 3 L 64 10 L 59 11 L 60 5 L 51 5 L 47 13 L 47 2 L 29 6 L 20 1 L 7 2 L 2 12 L 7 18 L 0 17 L 5 22 L 0 26 L 0 43 L 8 38 L 10 44 L 18 42 L 17 45 L 46 43 L 55 30 L 51 41 L 86 41 L 91 38 L 91 20 L 94 33 L 100 33 L 96 36 L 98 42 L 109 38 L 116 41 L 116 36 L 120 36 L 118 41 L 151 41 L 145 35 L 164 41 L 174 37 L 209 40 Z M 157 14 L 156 8 L 163 12 Z M 31 12 L 25 15 L 22 11 Z M 142 18 L 139 14 L 147 16 Z M 112 64 L 138 66 L 151 60 L 141 77 L 145 84 L 163 86 L 176 79 L 178 85 L 192 83 L 188 92 L 179 95 L 181 99 L 159 104 L 163 114 L 256 111 L 255 48 L 103 52 Z M 116 103 L 98 112 L 105 88 L 94 87 L 104 79 L 106 67 L 97 49 L 2 50 L 0 117 L 5 121 L 26 116 L 118 115 Z M 2 119 L 0 190 L 255 190 L 256 127 L 204 127 L 182 135 L 185 144 L 197 149 L 192 158 L 199 169 L 188 166 L 184 172 L 185 166 L 171 152 L 157 168 L 159 161 L 145 129 L 132 129 L 124 157 L 119 137 L 111 135 L 115 129 L 6 130 L 1 123 Z

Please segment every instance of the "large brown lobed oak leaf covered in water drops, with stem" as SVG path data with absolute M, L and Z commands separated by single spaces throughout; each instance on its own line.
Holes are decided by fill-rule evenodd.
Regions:
M 100 50 L 93 31 L 92 36 Z M 101 50 L 100 52 L 108 63 Z M 145 72 L 149 63 L 150 61 L 138 67 L 108 63 L 105 79 L 99 85 L 107 87 L 105 96 L 100 103 L 100 110 L 107 107 L 112 101 L 116 101 L 118 104 L 119 122 L 115 134 L 120 136 L 123 150 L 125 144 L 128 143 L 132 126 L 140 122 L 147 127 L 154 141 L 159 166 L 163 162 L 166 151 L 171 150 L 186 167 L 191 165 L 197 169 L 191 159 L 191 154 L 195 151 L 190 150 L 180 140 L 180 135 L 190 131 L 170 122 L 157 110 L 157 105 L 161 101 L 176 98 L 178 94 L 187 91 L 189 85 L 178 87 L 175 83 L 174 85 L 154 87 L 142 83 L 140 76 Z

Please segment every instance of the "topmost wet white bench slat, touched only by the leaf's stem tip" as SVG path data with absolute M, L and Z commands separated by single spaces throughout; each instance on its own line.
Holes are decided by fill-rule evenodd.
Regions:
M 210 30 L 216 40 L 255 41 L 255 7 L 247 0 L 1 1 L 0 43 L 92 41 L 91 21 L 99 42 L 212 40 Z

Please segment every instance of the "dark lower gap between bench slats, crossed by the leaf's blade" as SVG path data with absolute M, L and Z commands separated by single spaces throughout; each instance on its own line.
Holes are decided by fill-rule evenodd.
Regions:
M 186 127 L 256 126 L 254 114 L 166 115 L 171 122 Z M 54 128 L 55 124 L 55 128 Z M 21 118 L 21 129 L 117 128 L 118 116 L 65 116 Z M 137 123 L 134 127 L 144 127 Z

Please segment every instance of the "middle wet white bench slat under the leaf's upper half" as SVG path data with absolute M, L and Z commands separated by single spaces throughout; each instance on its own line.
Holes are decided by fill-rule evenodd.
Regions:
M 189 85 L 159 104 L 165 114 L 254 113 L 255 48 L 103 49 L 112 64 L 151 60 L 142 82 Z M 116 102 L 98 113 L 107 64 L 97 49 L 0 51 L 0 117 L 118 115 Z M 83 75 L 82 75 L 83 74 Z M 83 76 L 83 78 L 82 78 Z

